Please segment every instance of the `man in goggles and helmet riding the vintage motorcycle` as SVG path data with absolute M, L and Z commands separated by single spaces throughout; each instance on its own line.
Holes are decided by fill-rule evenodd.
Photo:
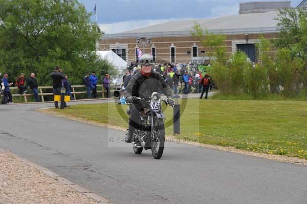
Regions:
M 153 57 L 151 54 L 144 54 L 140 59 L 141 71 L 135 74 L 129 81 L 124 96 L 130 105 L 129 132 L 126 134 L 125 142 L 131 143 L 133 132 L 140 128 L 139 118 L 144 105 L 139 98 L 148 98 L 153 92 L 158 92 L 159 88 L 167 97 L 170 106 L 174 105 L 172 92 L 168 83 L 160 73 L 152 70 Z

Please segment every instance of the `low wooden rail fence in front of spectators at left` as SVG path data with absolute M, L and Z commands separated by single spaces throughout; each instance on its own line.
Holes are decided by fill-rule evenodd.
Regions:
M 117 86 L 119 86 L 120 87 L 120 85 L 118 85 L 118 84 L 110 84 L 110 95 L 111 95 L 111 90 L 116 90 L 116 87 Z M 101 87 L 101 90 L 98 90 L 98 88 L 99 87 Z M 45 102 L 45 98 L 44 98 L 44 96 L 53 96 L 53 93 L 52 93 L 52 86 L 38 86 L 38 88 L 37 88 L 37 90 L 38 90 L 38 96 L 40 96 L 41 97 L 41 101 L 42 102 Z M 82 92 L 76 92 L 76 88 L 85 88 L 85 86 L 84 85 L 73 85 L 73 86 L 71 86 L 71 88 L 72 88 L 72 95 L 74 96 L 74 99 L 76 99 L 76 95 L 78 95 L 78 94 L 87 94 L 87 92 L 86 92 L 86 90 L 85 91 L 82 91 Z M 18 90 L 18 87 L 11 87 L 10 88 L 11 90 Z M 30 89 L 30 87 L 28 88 L 28 89 Z M 46 92 L 44 92 L 43 90 L 45 90 L 45 89 L 51 89 L 51 92 L 49 92 L 49 93 L 46 93 Z M 105 98 L 105 95 L 106 95 L 106 90 L 104 89 L 104 87 L 103 87 L 103 85 L 102 84 L 97 84 L 97 95 L 99 94 L 99 93 L 101 93 L 102 94 L 102 98 Z M 12 97 L 24 97 L 24 99 L 25 99 L 25 102 L 26 103 L 28 103 L 28 100 L 27 100 L 27 97 L 32 97 L 33 96 L 33 94 L 23 94 L 23 95 L 20 95 L 20 94 L 12 94 Z

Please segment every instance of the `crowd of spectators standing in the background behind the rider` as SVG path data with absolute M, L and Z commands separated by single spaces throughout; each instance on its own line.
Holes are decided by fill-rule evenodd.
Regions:
M 121 90 L 123 91 L 130 79 L 134 74 L 139 71 L 139 67 L 135 64 L 131 64 L 126 70 L 125 75 L 123 76 L 123 82 Z M 165 81 L 168 83 L 170 88 L 173 90 L 174 94 L 199 94 L 201 93 L 200 99 L 203 98 L 205 94 L 205 99 L 208 98 L 208 91 L 214 87 L 214 83 L 211 81 L 211 78 L 202 73 L 197 66 L 192 66 L 191 64 L 173 64 L 173 63 L 164 63 L 156 64 L 153 66 L 153 71 L 156 71 L 164 77 Z M 34 73 L 31 73 L 29 77 L 25 77 L 24 73 L 21 73 L 20 76 L 16 78 L 15 83 L 8 81 L 8 74 L 4 74 L 3 77 L 0 73 L 0 93 L 3 95 L 1 101 L 2 104 L 12 103 L 12 94 L 10 92 L 10 87 L 15 84 L 18 88 L 18 94 L 23 95 L 28 93 L 28 90 L 31 89 L 34 101 L 39 102 L 38 97 L 38 83 Z M 59 66 L 54 67 L 54 72 L 51 73 L 51 78 L 53 80 L 53 94 L 61 95 L 61 88 L 65 88 L 65 95 L 70 96 L 71 100 L 75 100 L 72 91 L 71 83 L 69 81 L 68 75 L 64 75 Z M 106 90 L 106 97 L 109 98 L 110 94 L 110 84 L 111 79 L 108 74 L 102 79 L 102 84 Z M 97 95 L 97 84 L 99 83 L 99 78 L 95 72 L 86 73 L 82 79 L 82 84 L 86 88 L 86 94 L 89 99 L 96 99 Z M 121 101 L 120 101 L 121 103 Z M 67 106 L 64 104 L 64 106 Z M 58 107 L 58 102 L 55 102 L 55 107 Z

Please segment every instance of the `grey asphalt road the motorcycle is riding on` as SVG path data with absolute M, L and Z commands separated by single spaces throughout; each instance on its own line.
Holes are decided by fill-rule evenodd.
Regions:
M 307 203 L 304 166 L 184 144 L 155 160 L 108 147 L 122 131 L 34 111 L 48 106 L 0 105 L 0 147 L 114 203 Z

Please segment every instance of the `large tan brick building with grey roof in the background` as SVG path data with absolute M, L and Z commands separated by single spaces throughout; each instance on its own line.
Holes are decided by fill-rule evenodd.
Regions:
M 118 34 L 106 34 L 99 40 L 100 50 L 113 50 L 125 61 L 136 62 L 137 38 L 150 38 L 145 53 L 152 53 L 157 62 L 191 62 L 194 57 L 206 58 L 209 48 L 191 36 L 195 22 L 209 32 L 226 36 L 227 52 L 246 52 L 251 61 L 256 61 L 255 44 L 259 35 L 265 38 L 278 36 L 278 9 L 290 8 L 290 2 L 252 2 L 240 4 L 238 15 L 216 18 L 170 21 Z M 143 51 L 143 47 L 140 48 Z

